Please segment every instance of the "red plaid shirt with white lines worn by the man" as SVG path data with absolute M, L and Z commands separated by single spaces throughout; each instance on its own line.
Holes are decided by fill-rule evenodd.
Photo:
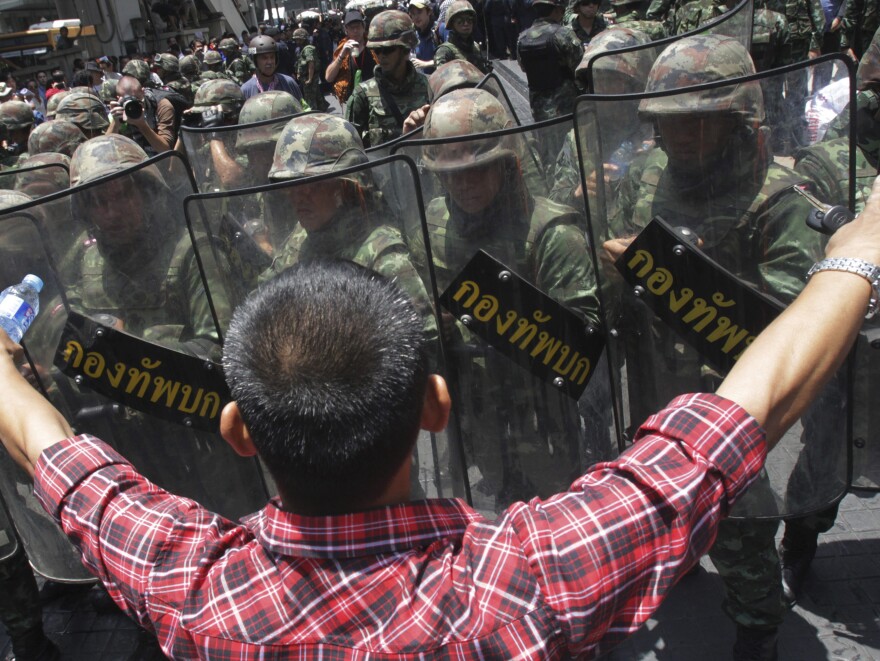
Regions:
M 36 491 L 114 600 L 172 657 L 598 655 L 710 546 L 763 431 L 686 395 L 567 493 L 490 522 L 459 500 L 234 523 L 151 484 L 97 439 L 40 457 Z

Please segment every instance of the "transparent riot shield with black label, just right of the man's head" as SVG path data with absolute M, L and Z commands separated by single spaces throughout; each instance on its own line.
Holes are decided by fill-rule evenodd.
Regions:
M 398 148 L 419 163 L 446 376 L 484 511 L 564 491 L 617 453 L 584 213 L 530 176 L 551 172 L 543 152 L 571 130 L 562 118 Z

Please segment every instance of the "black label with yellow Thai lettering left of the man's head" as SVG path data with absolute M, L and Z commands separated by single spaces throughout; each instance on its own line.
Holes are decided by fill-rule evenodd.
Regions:
M 55 366 L 115 402 L 216 432 L 230 401 L 220 365 L 152 344 L 71 312 Z

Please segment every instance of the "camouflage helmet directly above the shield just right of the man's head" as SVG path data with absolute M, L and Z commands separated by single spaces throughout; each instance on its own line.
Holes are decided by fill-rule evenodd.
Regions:
M 427 139 L 481 135 L 513 126 L 507 110 L 490 92 L 459 89 L 433 103 L 425 117 L 422 136 Z M 438 142 L 422 148 L 426 167 L 434 172 L 462 170 L 501 158 L 518 158 L 513 135 L 485 139 Z

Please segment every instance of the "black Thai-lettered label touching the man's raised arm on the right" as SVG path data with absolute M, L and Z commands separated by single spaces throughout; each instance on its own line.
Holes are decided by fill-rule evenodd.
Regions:
M 661 218 L 642 230 L 615 266 L 666 325 L 723 372 L 784 308 Z

